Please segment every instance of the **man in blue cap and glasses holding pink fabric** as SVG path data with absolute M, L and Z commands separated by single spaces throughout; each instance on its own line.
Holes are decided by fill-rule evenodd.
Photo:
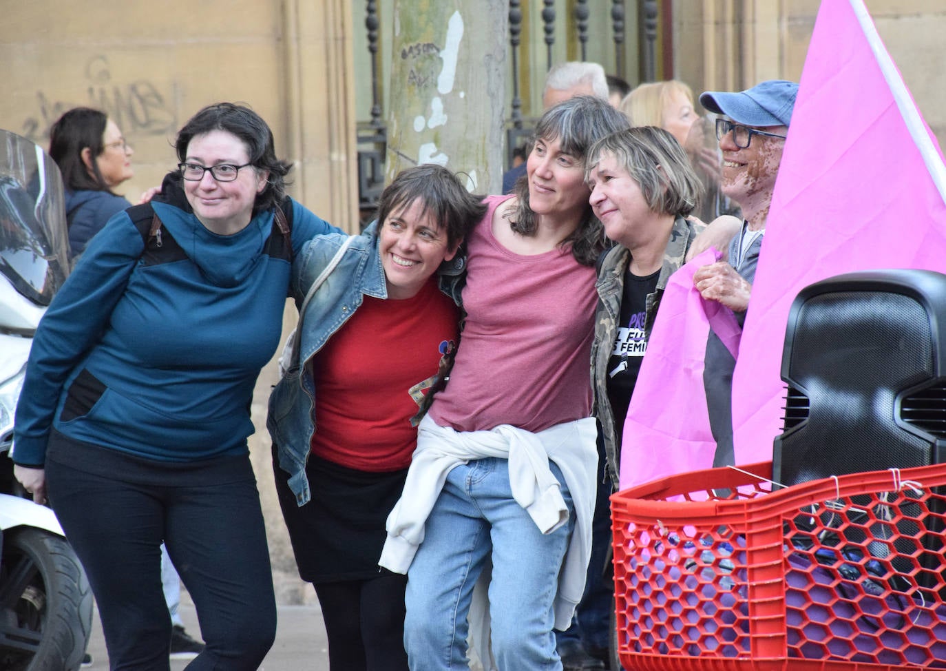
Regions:
M 693 274 L 693 285 L 708 300 L 732 309 L 745 321 L 756 274 L 765 220 L 772 204 L 781 152 L 792 120 L 798 85 L 770 79 L 739 93 L 707 91 L 704 108 L 720 115 L 716 137 L 723 152 L 720 190 L 743 211 L 743 227 L 729 244 L 728 261 L 704 266 Z M 707 392 L 710 428 L 716 440 L 713 466 L 734 464 L 732 447 L 732 371 L 736 361 L 715 333 L 707 342 L 703 382 Z

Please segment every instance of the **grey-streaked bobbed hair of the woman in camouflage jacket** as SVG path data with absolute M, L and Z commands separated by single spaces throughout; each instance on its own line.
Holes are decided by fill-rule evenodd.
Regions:
M 588 150 L 585 178 L 604 154 L 614 156 L 657 214 L 686 217 L 696 206 L 702 184 L 687 152 L 670 132 L 657 126 L 635 126 L 612 132 Z

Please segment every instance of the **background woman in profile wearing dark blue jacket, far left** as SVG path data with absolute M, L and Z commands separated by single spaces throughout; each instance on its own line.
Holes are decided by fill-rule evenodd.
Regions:
M 49 155 L 59 166 L 65 187 L 69 254 L 79 256 L 114 214 L 131 207 L 113 189 L 134 176 L 134 150 L 104 112 L 76 107 L 61 115 L 49 131 Z

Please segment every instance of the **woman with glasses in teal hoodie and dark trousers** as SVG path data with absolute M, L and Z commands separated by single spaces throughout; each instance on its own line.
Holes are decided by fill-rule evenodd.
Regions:
M 338 229 L 285 196 L 290 166 L 246 107 L 204 108 L 176 149 L 184 174 L 115 215 L 46 311 L 14 472 L 40 503 L 48 481 L 112 668 L 167 669 L 164 541 L 206 643 L 187 668 L 250 670 L 276 627 L 250 404 L 279 344 L 292 257 Z

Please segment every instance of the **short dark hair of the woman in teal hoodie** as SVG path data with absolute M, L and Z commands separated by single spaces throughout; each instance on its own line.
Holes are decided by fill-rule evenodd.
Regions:
M 178 160 L 187 158 L 187 146 L 197 135 L 211 131 L 229 132 L 246 146 L 249 163 L 254 168 L 270 173 L 266 187 L 256 194 L 254 214 L 278 206 L 286 198 L 286 175 L 292 164 L 276 158 L 272 131 L 263 117 L 245 105 L 233 102 L 218 102 L 207 105 L 184 124 L 174 144 Z

